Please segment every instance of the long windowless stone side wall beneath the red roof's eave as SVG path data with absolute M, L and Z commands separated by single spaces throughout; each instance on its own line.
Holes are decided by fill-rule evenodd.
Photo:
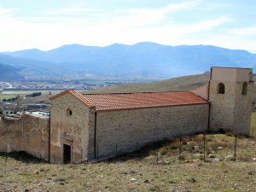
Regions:
M 206 131 L 208 104 L 97 112 L 96 156 L 107 159 L 144 145 Z

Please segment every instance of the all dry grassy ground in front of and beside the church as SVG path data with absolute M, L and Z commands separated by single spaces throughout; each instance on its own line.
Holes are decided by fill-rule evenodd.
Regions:
M 0 191 L 256 191 L 255 139 L 238 138 L 236 161 L 224 158 L 234 152 L 234 137 L 218 134 L 206 139 L 207 150 L 216 155 L 207 156 L 206 163 L 202 135 L 182 138 L 180 164 L 179 139 L 145 148 L 137 153 L 144 154 L 140 158 L 134 153 L 88 165 L 27 163 L 2 154 Z

